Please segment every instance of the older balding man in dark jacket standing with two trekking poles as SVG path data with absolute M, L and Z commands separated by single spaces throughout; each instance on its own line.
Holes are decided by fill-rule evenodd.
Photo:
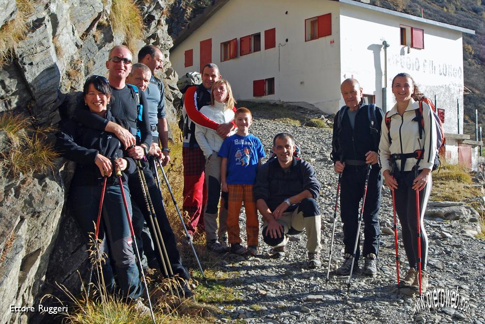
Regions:
M 363 89 L 356 79 L 344 80 L 340 90 L 345 106 L 340 108 L 335 116 L 331 154 L 335 172 L 341 173 L 340 217 L 345 245 L 345 259 L 337 269 L 337 274 L 349 275 L 352 262 L 354 270 L 358 269 L 359 244 L 355 256 L 353 254 L 358 235 L 359 203 L 364 197 L 364 186 L 368 179 L 363 211 L 363 270 L 365 274 L 375 275 L 380 238 L 377 214 L 381 204 L 382 187 L 377 152 L 383 113 L 381 108 L 364 103 Z M 368 165 L 371 165 L 369 173 Z

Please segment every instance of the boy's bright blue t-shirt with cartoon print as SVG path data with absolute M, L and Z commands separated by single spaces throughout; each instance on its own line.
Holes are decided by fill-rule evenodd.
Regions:
M 261 141 L 251 134 L 229 136 L 218 155 L 227 158 L 226 182 L 229 185 L 254 185 L 258 161 L 265 157 Z

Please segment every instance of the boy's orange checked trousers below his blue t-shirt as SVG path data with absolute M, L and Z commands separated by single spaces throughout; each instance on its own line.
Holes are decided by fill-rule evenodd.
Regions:
M 242 201 L 246 210 L 246 235 L 248 246 L 258 246 L 258 211 L 253 196 L 253 185 L 227 185 L 229 189 L 229 204 L 227 208 L 227 234 L 229 244 L 241 243 L 239 236 L 239 213 Z

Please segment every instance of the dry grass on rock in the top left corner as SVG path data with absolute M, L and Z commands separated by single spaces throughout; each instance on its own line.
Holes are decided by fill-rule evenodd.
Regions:
M 16 17 L 0 28 L 0 68 L 11 60 L 15 45 L 29 30 L 27 18 L 33 11 L 33 0 L 16 0 Z

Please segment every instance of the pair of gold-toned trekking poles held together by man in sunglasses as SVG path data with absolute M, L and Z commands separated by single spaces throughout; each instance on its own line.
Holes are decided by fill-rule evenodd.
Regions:
M 158 248 L 160 258 L 161 258 L 161 261 L 162 261 L 163 272 L 165 273 L 165 276 L 167 278 L 170 278 L 170 276 L 173 277 L 172 266 L 170 265 L 170 260 L 168 259 L 167 250 L 165 249 L 165 244 L 163 242 L 162 233 L 160 232 L 160 227 L 158 225 L 158 220 L 157 220 L 157 217 L 156 217 L 155 209 L 153 208 L 150 193 L 149 193 L 148 187 L 146 185 L 145 175 L 143 174 L 143 171 L 141 169 L 140 160 L 135 160 L 135 163 L 136 163 L 136 169 L 138 171 L 138 177 L 140 179 L 140 185 L 142 186 L 142 192 L 143 192 L 143 197 L 144 197 L 145 203 L 146 203 L 146 209 L 148 211 L 148 216 L 149 216 L 148 218 L 150 219 L 150 225 L 152 227 L 153 234 L 155 235 L 155 242 L 157 244 L 157 248 Z M 162 253 L 162 250 L 163 250 L 164 253 Z M 167 269 L 170 269 L 170 274 L 169 274 L 169 271 Z M 174 291 L 172 290 L 172 285 L 169 285 L 169 288 L 170 288 L 170 293 L 172 293 L 172 295 L 174 295 Z M 177 292 L 177 295 L 178 295 L 178 299 L 180 299 L 180 295 L 178 294 L 178 289 L 176 289 L 176 292 Z

